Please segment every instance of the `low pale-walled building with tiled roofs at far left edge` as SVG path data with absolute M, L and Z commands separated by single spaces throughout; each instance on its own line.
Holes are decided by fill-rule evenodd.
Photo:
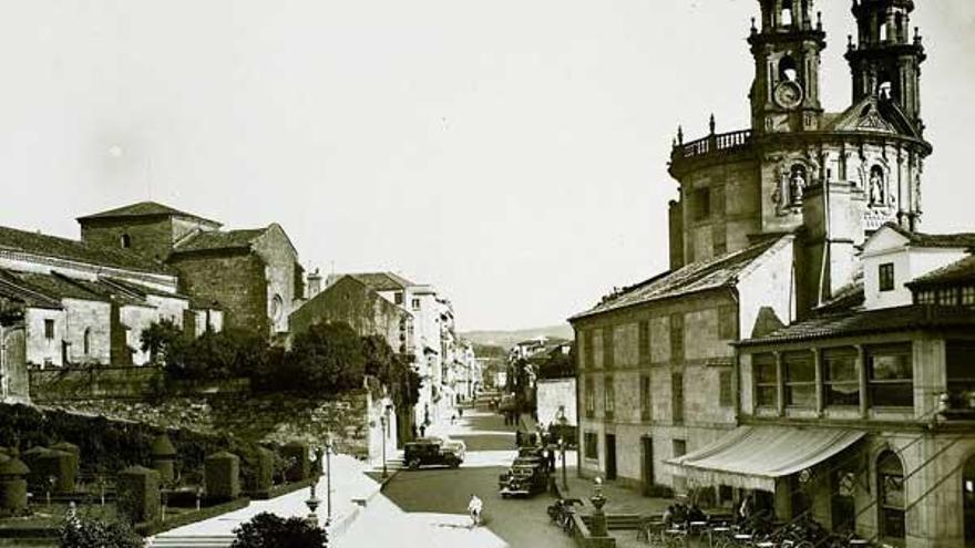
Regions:
M 176 272 L 127 249 L 0 227 L 0 382 L 27 399 L 29 366 L 132 365 L 161 319 L 186 325 L 222 312 L 194 307 Z

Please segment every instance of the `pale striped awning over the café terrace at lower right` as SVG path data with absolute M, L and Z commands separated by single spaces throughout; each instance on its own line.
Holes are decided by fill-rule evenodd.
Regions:
M 827 461 L 866 433 L 846 428 L 739 426 L 717 442 L 666 461 L 691 485 L 776 490 L 776 479 Z

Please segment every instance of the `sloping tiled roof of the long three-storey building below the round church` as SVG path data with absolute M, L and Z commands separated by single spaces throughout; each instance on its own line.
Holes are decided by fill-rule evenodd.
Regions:
M 634 304 L 733 286 L 738 281 L 738 276 L 749 265 L 787 238 L 791 237 L 769 238 L 738 251 L 731 251 L 706 261 L 687 265 L 671 272 L 665 272 L 635 286 L 624 288 L 618 294 L 571 319 L 575 320 Z

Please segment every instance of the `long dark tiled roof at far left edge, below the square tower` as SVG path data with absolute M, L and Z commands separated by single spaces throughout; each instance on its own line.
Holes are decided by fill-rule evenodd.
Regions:
M 0 227 L 0 250 L 3 249 L 125 270 L 172 273 L 162 262 L 133 251 L 95 246 L 57 236 L 28 232 L 16 228 Z

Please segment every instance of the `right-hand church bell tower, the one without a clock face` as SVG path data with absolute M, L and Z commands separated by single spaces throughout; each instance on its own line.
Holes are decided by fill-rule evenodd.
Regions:
M 876 96 L 894 102 L 923 133 L 921 120 L 921 63 L 924 45 L 917 28 L 910 37 L 913 0 L 853 0 L 858 42 L 846 49 L 853 73 L 853 104 Z

